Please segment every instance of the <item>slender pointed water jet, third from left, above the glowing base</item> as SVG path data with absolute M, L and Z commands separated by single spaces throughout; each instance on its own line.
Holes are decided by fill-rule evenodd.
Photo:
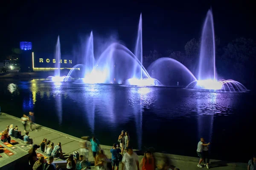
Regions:
M 139 21 L 139 27 L 138 27 L 138 34 L 137 34 L 137 40 L 136 40 L 136 46 L 135 46 L 135 51 L 134 55 L 137 57 L 137 59 L 140 61 L 140 79 L 142 79 L 142 14 L 140 13 L 140 21 Z M 135 69 L 135 68 L 134 68 Z M 136 69 L 135 69 L 136 72 Z

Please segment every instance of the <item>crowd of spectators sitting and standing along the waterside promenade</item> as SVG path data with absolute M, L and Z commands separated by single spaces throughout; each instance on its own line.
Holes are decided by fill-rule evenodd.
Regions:
M 32 131 L 32 126 L 34 124 L 34 113 L 29 112 L 29 116 L 25 114 L 21 118 L 21 122 L 24 125 L 25 135 L 22 136 L 22 132 L 18 130 L 17 125 L 14 127 L 13 125 L 8 125 L 6 130 L 3 131 L 1 136 L 2 142 L 11 143 L 11 136 L 16 139 L 23 139 L 24 143 L 32 144 L 32 148 L 29 150 L 29 165 L 33 170 L 57 170 L 58 165 L 52 164 L 54 158 L 64 159 L 61 142 L 54 145 L 53 142 L 44 138 L 42 142 L 38 144 L 33 144 L 33 139 L 29 137 L 29 131 L 26 131 L 26 125 L 29 124 L 30 130 Z M 36 126 L 35 126 L 35 130 Z M 90 141 L 91 143 L 91 151 L 93 153 L 94 158 L 94 166 L 96 166 L 97 170 L 119 170 L 119 163 L 122 163 L 122 170 L 169 170 L 169 161 L 166 157 L 163 164 L 157 164 L 154 158 L 154 154 L 151 153 L 150 150 L 146 150 L 144 153 L 143 159 L 141 159 L 139 163 L 138 155 L 133 151 L 130 142 L 129 133 L 124 130 L 121 131 L 118 136 L 118 140 L 116 144 L 113 144 L 113 147 L 110 150 L 111 159 L 108 159 L 104 153 L 104 150 L 100 147 L 100 142 L 96 139 L 95 136 L 91 138 L 89 136 L 81 137 L 84 141 L 80 142 L 81 148 L 79 152 L 76 151 L 67 159 L 67 169 L 69 170 L 88 170 L 90 169 L 90 162 L 88 161 L 89 156 L 89 147 L 87 146 L 86 141 Z M 207 167 L 209 169 L 209 145 L 210 142 L 205 142 L 204 138 L 201 138 L 198 142 L 197 154 L 200 157 L 200 161 L 198 162 L 198 167 Z M 44 159 L 44 156 L 38 157 L 36 154 L 37 149 L 41 149 L 43 153 L 45 153 L 48 158 L 48 162 Z M 124 151 L 126 153 L 124 153 Z M 204 161 L 204 165 L 201 163 Z M 111 167 L 108 165 L 111 164 Z M 256 170 L 256 155 L 253 156 L 252 159 L 248 162 L 248 170 Z M 179 170 L 179 168 L 175 167 L 174 170 Z

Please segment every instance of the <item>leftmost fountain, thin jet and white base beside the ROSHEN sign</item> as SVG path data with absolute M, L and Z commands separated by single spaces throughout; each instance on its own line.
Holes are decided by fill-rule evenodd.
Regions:
M 60 36 L 58 36 L 56 49 L 55 49 L 55 59 L 57 62 L 55 62 L 55 70 L 54 70 L 54 76 L 47 77 L 47 81 L 50 82 L 64 82 L 67 79 L 70 79 L 69 76 L 61 76 L 60 74 L 60 61 L 61 61 L 61 43 L 60 43 Z

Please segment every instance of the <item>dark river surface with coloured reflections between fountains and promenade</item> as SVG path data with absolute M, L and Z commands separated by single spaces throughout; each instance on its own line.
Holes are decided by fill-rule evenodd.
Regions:
M 200 137 L 212 159 L 247 162 L 255 151 L 255 95 L 168 87 L 84 85 L 42 79 L 0 79 L 1 111 L 101 144 L 128 131 L 136 149 L 197 156 Z

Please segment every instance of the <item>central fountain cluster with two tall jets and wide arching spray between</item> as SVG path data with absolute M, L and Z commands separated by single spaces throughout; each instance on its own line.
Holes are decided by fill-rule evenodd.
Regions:
M 140 15 L 137 42 L 134 54 L 124 45 L 114 42 L 105 51 L 94 58 L 93 34 L 84 45 L 83 63 L 75 65 L 83 75 L 76 83 L 105 83 L 105 84 L 125 84 L 137 86 L 157 86 L 161 83 L 157 79 L 152 79 L 142 64 L 142 16 Z M 74 74 L 71 69 L 68 77 Z M 69 80 L 66 80 L 69 81 Z

